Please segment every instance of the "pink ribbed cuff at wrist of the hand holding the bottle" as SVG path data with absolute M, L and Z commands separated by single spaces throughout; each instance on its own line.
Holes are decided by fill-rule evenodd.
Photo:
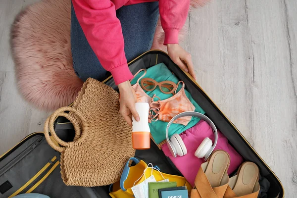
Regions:
M 128 81 L 134 77 L 131 71 L 129 70 L 127 63 L 111 69 L 110 73 L 116 85 Z

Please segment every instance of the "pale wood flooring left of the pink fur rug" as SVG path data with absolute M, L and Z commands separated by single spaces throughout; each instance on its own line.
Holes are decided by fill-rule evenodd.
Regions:
M 49 113 L 36 110 L 17 92 L 10 54 L 10 26 L 16 14 L 39 0 L 9 0 L 0 7 L 0 154 L 26 135 L 43 131 Z

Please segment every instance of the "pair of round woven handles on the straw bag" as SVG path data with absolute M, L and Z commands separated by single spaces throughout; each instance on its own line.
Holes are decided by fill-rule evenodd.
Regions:
M 65 113 L 65 111 L 69 111 L 73 113 L 73 115 L 69 113 Z M 54 126 L 55 119 L 59 116 L 67 118 L 73 124 L 74 130 L 75 130 L 75 137 L 73 142 L 64 142 L 61 139 L 59 139 L 59 137 L 56 135 L 53 126 Z M 81 126 L 77 119 L 80 120 Z M 86 133 L 83 133 L 81 131 L 86 131 L 86 130 L 87 130 L 87 125 L 86 125 L 85 116 L 83 115 L 82 112 L 78 112 L 76 108 L 71 106 L 61 107 L 61 108 L 58 108 L 56 111 L 54 111 L 46 120 L 45 127 L 44 127 L 45 138 L 49 143 L 49 146 L 59 152 L 63 152 L 65 148 L 68 147 L 69 145 L 77 146 L 81 144 L 82 141 L 84 141 L 86 138 Z M 51 140 L 49 136 L 49 132 L 52 138 L 62 147 L 57 146 Z

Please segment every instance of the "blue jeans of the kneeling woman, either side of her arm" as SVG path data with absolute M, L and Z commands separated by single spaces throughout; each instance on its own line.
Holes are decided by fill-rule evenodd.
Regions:
M 121 22 L 127 60 L 133 60 L 149 50 L 159 17 L 158 2 L 123 6 L 116 10 L 116 16 Z M 89 77 L 103 81 L 110 75 L 90 47 L 73 6 L 71 6 L 71 51 L 73 68 L 83 81 Z

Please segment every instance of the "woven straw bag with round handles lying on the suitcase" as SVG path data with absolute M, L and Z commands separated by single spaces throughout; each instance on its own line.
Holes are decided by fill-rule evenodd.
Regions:
M 55 134 L 53 124 L 58 116 L 73 124 L 73 142 L 64 142 Z M 131 128 L 119 114 L 118 93 L 95 79 L 84 83 L 72 107 L 61 107 L 49 116 L 44 131 L 49 145 L 61 152 L 61 175 L 66 185 L 115 183 L 135 154 Z

